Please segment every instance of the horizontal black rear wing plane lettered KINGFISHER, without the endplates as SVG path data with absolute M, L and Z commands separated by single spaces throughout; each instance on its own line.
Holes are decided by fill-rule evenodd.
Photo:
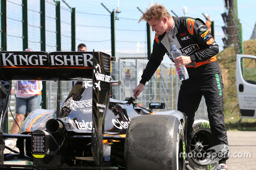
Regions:
M 92 80 L 93 54 L 1 51 L 0 80 Z

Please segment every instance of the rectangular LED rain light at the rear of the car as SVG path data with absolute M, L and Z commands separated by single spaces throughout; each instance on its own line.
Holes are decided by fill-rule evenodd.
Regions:
M 44 153 L 45 152 L 45 136 L 33 135 L 32 136 L 32 153 Z

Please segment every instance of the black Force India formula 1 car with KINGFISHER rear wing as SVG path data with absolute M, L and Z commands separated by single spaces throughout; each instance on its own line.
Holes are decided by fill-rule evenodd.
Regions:
M 1 169 L 215 169 L 208 157 L 188 158 L 185 165 L 186 116 L 177 110 L 156 112 L 134 98 L 112 99 L 114 57 L 102 52 L 7 52 L 0 55 Z M 3 133 L 11 80 L 59 81 L 55 110 L 36 109 L 20 134 Z M 60 102 L 60 81 L 77 81 Z M 159 106 L 158 106 L 159 105 Z M 190 150 L 205 152 L 212 141 L 209 121 L 196 116 Z M 17 138 L 14 151 L 5 139 Z M 8 149 L 14 153 L 5 153 Z M 8 165 L 4 161 L 27 161 Z

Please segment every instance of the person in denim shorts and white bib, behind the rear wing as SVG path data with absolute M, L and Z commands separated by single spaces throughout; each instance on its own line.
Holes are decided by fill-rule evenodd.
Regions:
M 24 51 L 32 51 L 27 48 Z M 42 102 L 42 81 L 18 81 L 16 92 L 16 116 L 13 122 L 11 134 L 17 134 L 20 130 L 21 122 L 24 119 L 26 111 L 28 115 L 33 110 L 39 108 Z M 5 140 L 5 145 L 13 145 L 12 140 Z

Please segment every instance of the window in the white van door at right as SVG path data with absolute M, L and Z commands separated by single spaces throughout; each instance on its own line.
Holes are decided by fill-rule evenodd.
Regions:
M 241 58 L 241 66 L 244 80 L 256 84 L 256 59 Z

